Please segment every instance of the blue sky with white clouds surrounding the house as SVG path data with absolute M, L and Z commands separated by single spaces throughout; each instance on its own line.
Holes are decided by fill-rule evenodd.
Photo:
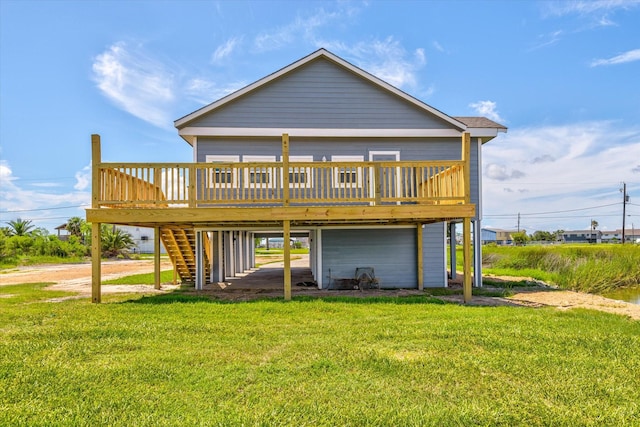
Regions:
M 189 162 L 173 121 L 324 47 L 484 146 L 487 227 L 640 228 L 640 1 L 0 0 L 0 224 L 50 231 L 107 162 Z

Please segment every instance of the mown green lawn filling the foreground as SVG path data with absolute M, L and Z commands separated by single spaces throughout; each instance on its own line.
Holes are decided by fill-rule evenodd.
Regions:
M 0 287 L 0 425 L 638 425 L 640 322 Z

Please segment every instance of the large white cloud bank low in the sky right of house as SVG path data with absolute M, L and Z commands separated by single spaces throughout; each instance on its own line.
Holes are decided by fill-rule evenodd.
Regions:
M 509 129 L 482 155 L 485 225 L 512 227 L 520 213 L 530 232 L 585 228 L 591 217 L 615 229 L 620 182 L 640 191 L 640 128 L 585 122 Z

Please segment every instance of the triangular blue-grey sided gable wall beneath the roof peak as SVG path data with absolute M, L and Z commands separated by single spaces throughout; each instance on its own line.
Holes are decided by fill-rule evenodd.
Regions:
M 265 84 L 188 126 L 443 129 L 451 125 L 327 59 Z

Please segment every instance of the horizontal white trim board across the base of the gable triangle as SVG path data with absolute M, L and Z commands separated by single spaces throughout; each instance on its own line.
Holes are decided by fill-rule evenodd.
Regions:
M 455 138 L 462 135 L 455 129 L 324 129 L 324 128 L 217 128 L 186 127 L 180 129 L 180 136 L 231 136 L 231 137 L 281 137 L 283 133 L 291 137 L 444 137 Z M 471 135 L 477 136 L 477 135 Z M 495 136 L 495 135 L 494 135 Z

